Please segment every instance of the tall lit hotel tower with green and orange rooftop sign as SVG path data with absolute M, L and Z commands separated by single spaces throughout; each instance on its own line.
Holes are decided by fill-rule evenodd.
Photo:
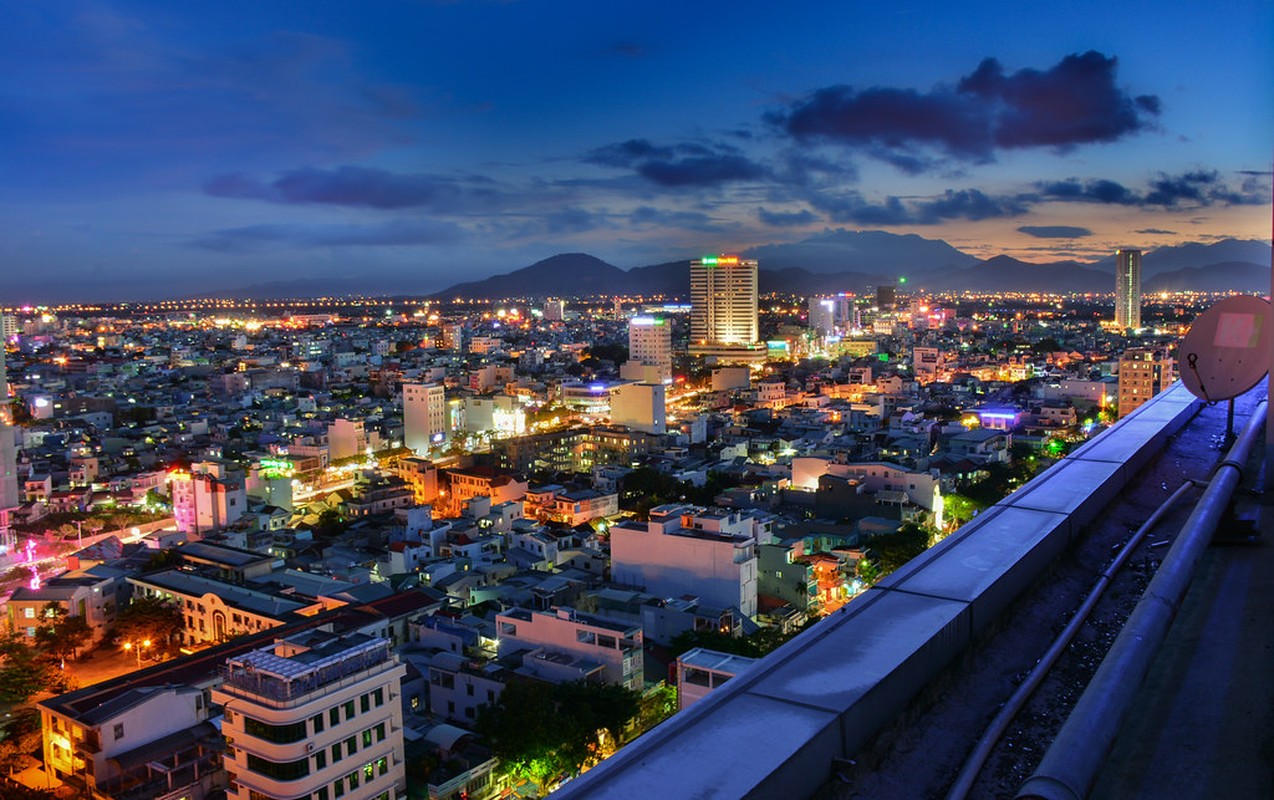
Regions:
M 703 256 L 691 261 L 691 354 L 763 362 L 757 324 L 757 261 Z

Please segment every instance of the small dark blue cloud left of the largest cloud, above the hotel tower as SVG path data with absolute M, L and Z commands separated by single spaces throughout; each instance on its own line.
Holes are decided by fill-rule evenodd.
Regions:
M 761 164 L 724 143 L 661 146 L 646 139 L 629 139 L 598 148 L 585 161 L 633 169 L 651 183 L 671 189 L 755 181 L 766 175 Z

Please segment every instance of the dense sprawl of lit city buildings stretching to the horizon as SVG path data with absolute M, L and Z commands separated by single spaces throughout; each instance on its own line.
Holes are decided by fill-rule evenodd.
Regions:
M 749 666 L 713 645 L 852 606 L 893 543 L 922 550 L 1164 391 L 1206 302 L 1148 301 L 1129 334 L 1108 297 L 758 297 L 754 261 L 706 261 L 688 308 L 564 318 L 19 310 L 6 619 L 32 650 L 76 619 L 127 668 L 42 701 L 41 780 L 497 796 L 527 780 L 492 749 L 502 698 L 702 699 Z M 162 636 L 129 627 L 157 606 Z

